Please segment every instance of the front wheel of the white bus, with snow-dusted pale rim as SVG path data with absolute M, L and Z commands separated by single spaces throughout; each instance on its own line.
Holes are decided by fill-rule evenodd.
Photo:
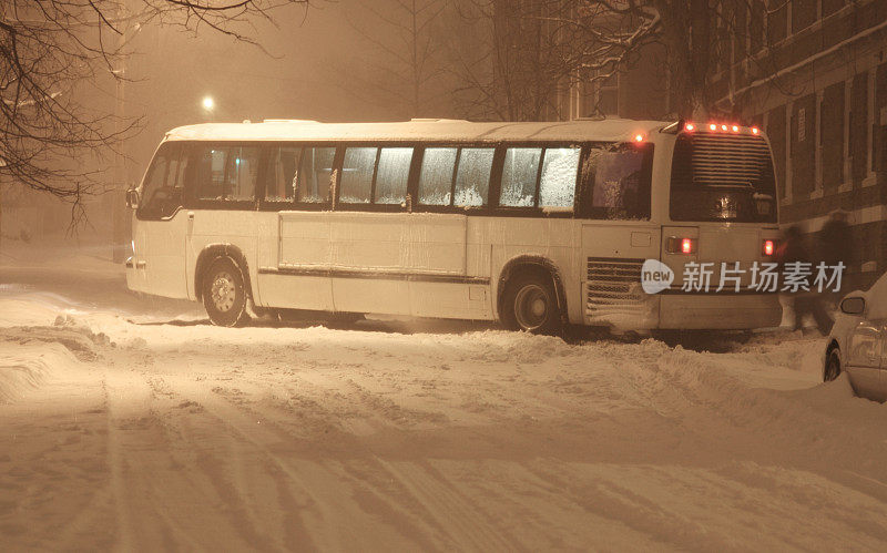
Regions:
M 227 257 L 220 257 L 203 278 L 203 307 L 213 325 L 236 327 L 247 320 L 246 290 L 241 269 Z

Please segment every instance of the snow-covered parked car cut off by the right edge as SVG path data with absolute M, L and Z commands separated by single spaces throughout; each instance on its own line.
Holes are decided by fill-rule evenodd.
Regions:
M 828 336 L 823 380 L 846 372 L 857 396 L 887 401 L 887 274 L 840 300 Z

